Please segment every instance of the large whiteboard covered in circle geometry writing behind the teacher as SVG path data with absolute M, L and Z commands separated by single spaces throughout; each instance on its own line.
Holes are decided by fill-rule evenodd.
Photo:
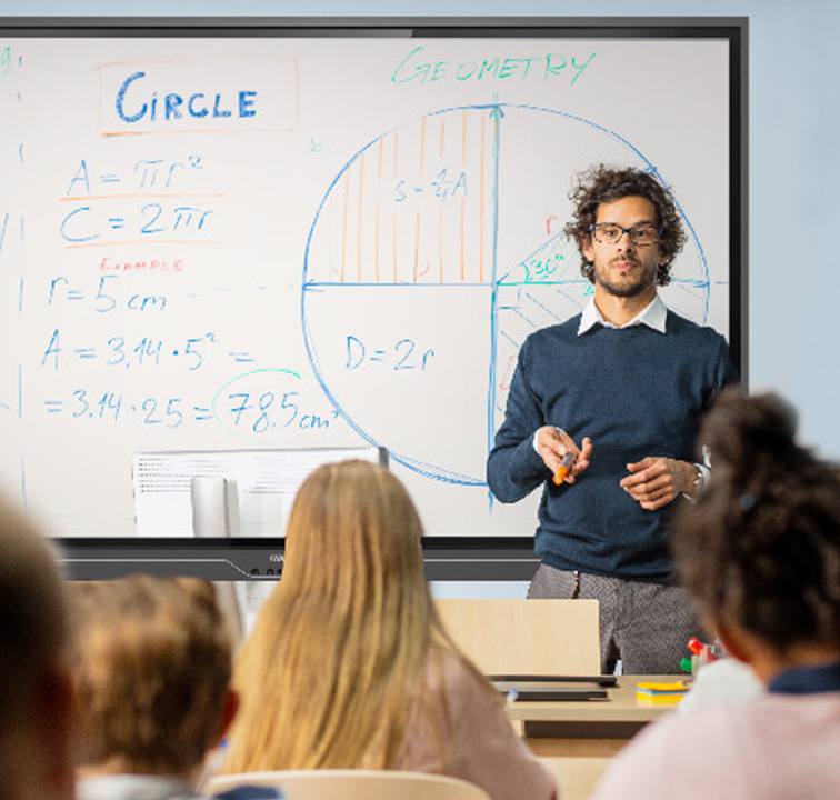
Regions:
M 591 291 L 576 171 L 672 187 L 746 367 L 743 24 L 0 20 L 0 484 L 132 537 L 136 452 L 371 443 L 430 536 L 531 536 L 484 460 Z

